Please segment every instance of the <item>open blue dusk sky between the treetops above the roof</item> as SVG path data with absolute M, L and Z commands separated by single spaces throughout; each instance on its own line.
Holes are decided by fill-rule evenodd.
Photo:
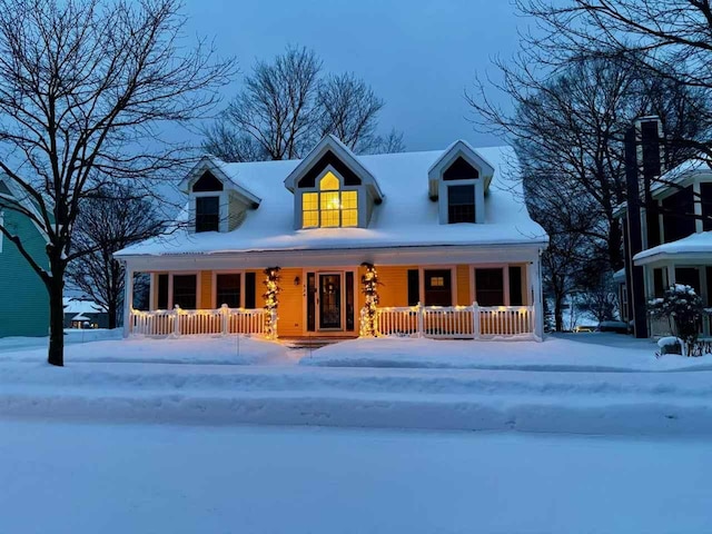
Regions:
M 402 130 L 408 150 L 501 142 L 473 130 L 463 92 L 475 73 L 496 75 L 493 57 L 516 50 L 523 21 L 508 0 L 188 0 L 186 13 L 187 29 L 214 38 L 243 73 L 287 44 L 314 49 L 325 70 L 355 72 L 386 101 L 382 129 Z

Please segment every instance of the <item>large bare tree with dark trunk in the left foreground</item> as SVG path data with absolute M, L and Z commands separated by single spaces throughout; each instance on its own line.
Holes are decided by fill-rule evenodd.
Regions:
M 47 239 L 47 264 L 12 241 L 44 283 L 48 360 L 63 365 L 62 291 L 82 201 L 107 181 L 151 195 L 149 178 L 175 172 L 185 147 L 160 140 L 216 101 L 233 62 L 180 42 L 177 0 L 0 0 L 0 169 L 27 198 L 6 206 Z M 29 200 L 29 204 L 27 202 Z

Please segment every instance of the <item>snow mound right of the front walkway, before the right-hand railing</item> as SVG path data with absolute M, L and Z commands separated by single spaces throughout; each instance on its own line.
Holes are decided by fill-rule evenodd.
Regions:
M 566 372 L 712 370 L 712 355 L 655 357 L 650 339 L 610 333 L 562 334 L 537 342 L 472 342 L 382 337 L 320 348 L 301 365 L 443 367 Z

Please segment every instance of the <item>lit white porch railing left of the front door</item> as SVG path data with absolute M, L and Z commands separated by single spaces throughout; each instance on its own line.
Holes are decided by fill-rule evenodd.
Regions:
M 138 336 L 189 336 L 201 334 L 267 335 L 269 313 L 265 309 L 158 309 L 131 310 L 130 334 Z M 276 317 L 275 317 L 276 319 Z

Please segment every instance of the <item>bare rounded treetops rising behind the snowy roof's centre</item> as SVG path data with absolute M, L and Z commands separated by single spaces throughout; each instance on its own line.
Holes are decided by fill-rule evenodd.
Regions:
M 306 48 L 287 48 L 259 61 L 244 89 L 206 129 L 204 149 L 225 161 L 295 159 L 334 134 L 358 152 L 403 150 L 403 136 L 376 134 L 384 106 L 352 73 L 322 77 L 322 61 Z

